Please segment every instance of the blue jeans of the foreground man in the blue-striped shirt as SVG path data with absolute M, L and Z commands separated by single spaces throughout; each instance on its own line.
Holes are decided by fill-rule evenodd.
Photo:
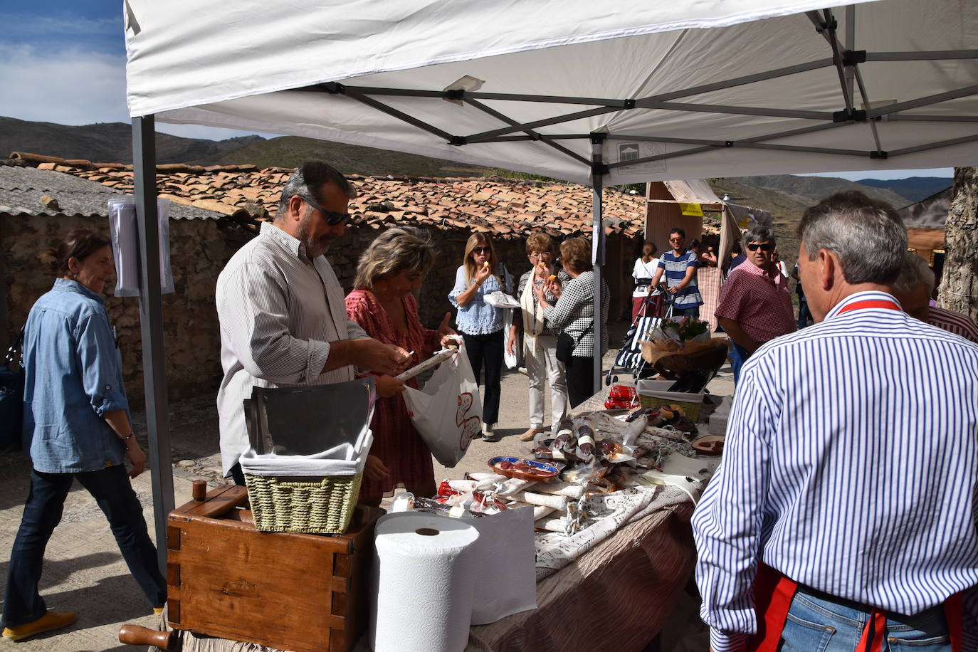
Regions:
M 778 650 L 799 652 L 853 652 L 869 614 L 846 600 L 828 600 L 799 589 L 791 601 Z M 889 614 L 884 652 L 951 652 L 943 607 L 916 616 Z

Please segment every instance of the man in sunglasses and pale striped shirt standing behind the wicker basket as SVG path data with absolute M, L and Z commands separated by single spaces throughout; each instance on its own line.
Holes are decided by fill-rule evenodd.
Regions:
M 224 473 L 244 484 L 248 449 L 242 402 L 251 387 L 353 379 L 353 367 L 395 375 L 398 346 L 371 339 L 346 316 L 343 288 L 324 255 L 343 235 L 356 191 L 332 166 L 308 161 L 282 190 L 275 221 L 231 257 L 217 279 L 224 379 L 217 394 Z M 385 475 L 368 463 L 367 474 Z

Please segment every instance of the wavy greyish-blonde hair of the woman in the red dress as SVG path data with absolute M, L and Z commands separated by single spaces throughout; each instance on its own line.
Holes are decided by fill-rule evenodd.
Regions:
M 357 263 L 354 289 L 374 289 L 382 277 L 417 270 L 422 274 L 434 264 L 431 235 L 417 227 L 393 227 L 367 245 Z

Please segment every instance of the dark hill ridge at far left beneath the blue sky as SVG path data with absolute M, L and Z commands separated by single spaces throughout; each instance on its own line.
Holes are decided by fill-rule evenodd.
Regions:
M 264 141 L 242 136 L 223 141 L 156 134 L 156 161 L 209 165 L 226 152 Z M 68 126 L 0 116 L 0 156 L 10 152 L 85 158 L 93 163 L 131 163 L 132 128 L 125 122 Z

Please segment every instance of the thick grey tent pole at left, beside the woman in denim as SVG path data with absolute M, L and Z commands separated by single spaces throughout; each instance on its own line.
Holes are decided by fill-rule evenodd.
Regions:
M 173 467 L 163 357 L 163 307 L 159 291 L 156 214 L 156 129 L 153 115 L 132 118 L 133 190 L 139 231 L 139 322 L 143 336 L 143 383 L 150 437 L 150 471 L 156 524 L 156 559 L 166 577 L 166 516 L 173 510 Z

